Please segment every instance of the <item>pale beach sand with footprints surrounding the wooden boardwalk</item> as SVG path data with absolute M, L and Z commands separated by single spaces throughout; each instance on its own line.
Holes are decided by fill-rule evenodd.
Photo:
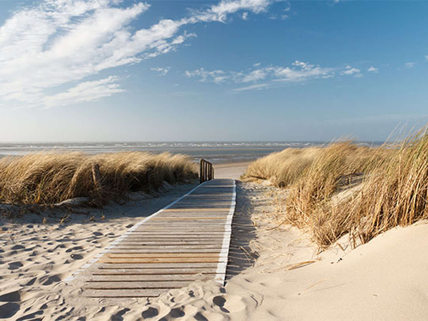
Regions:
M 246 164 L 216 166 L 237 178 Z M 428 314 L 428 222 L 395 228 L 352 250 L 345 235 L 323 253 L 283 224 L 281 190 L 238 182 L 223 288 L 194 282 L 155 299 L 88 299 L 67 276 L 141 217 L 194 185 L 101 210 L 66 209 L 0 221 L 0 318 L 6 320 L 422 320 Z M 47 222 L 42 224 L 43 217 Z M 92 220 L 90 220 L 93 217 Z M 69 218 L 69 219 L 70 219 Z M 343 250 L 342 250 L 343 249 Z

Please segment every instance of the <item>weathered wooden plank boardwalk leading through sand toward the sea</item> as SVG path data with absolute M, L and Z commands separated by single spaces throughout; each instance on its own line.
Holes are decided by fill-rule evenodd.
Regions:
M 140 221 L 88 264 L 83 295 L 156 297 L 196 280 L 223 284 L 235 199 L 234 180 L 205 181 Z

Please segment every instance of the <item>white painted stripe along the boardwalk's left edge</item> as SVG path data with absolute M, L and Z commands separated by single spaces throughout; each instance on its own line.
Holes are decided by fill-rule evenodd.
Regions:
M 151 218 L 155 217 L 156 215 L 158 215 L 158 214 L 162 213 L 163 211 L 165 211 L 166 209 L 170 208 L 175 203 L 181 201 L 182 199 L 184 199 L 184 197 L 186 197 L 190 193 L 193 193 L 195 190 L 197 190 L 199 187 L 201 187 L 206 182 L 208 182 L 208 181 L 204 181 L 203 183 L 199 184 L 198 186 L 192 188 L 190 191 L 188 191 L 186 194 L 184 194 L 180 198 L 176 199 L 174 202 L 166 205 L 164 208 L 161 208 L 159 211 L 157 211 L 157 212 L 155 212 L 155 213 L 153 213 L 153 214 L 145 217 L 143 220 L 141 220 L 140 222 L 138 222 L 137 224 L 135 224 L 134 226 L 132 226 L 130 229 L 128 229 L 128 231 L 125 232 L 125 234 L 123 234 L 119 238 L 116 238 L 116 240 L 113 241 L 112 243 L 110 243 L 110 245 L 108 245 L 107 247 L 105 247 L 98 254 L 96 254 L 92 259 L 90 259 L 88 262 L 86 262 L 84 265 L 82 265 L 79 269 L 77 269 L 76 271 L 74 271 L 70 276 L 68 276 L 67 278 L 65 278 L 62 281 L 62 283 L 68 283 L 68 282 L 71 282 L 72 280 L 74 280 L 81 272 L 83 272 L 83 270 L 86 270 L 87 268 L 91 267 L 92 264 L 94 264 L 99 259 L 101 259 L 101 257 L 104 256 L 105 253 L 108 253 L 108 252 L 110 252 L 110 250 L 113 250 L 115 247 L 117 247 L 118 243 L 120 241 L 122 241 L 124 238 L 126 238 L 129 234 L 131 234 L 131 232 L 134 231 L 134 229 L 137 229 L 137 227 L 139 227 L 141 224 L 147 222 Z

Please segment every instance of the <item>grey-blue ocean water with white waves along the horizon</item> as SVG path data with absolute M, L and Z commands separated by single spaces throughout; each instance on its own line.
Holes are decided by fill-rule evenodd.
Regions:
M 379 146 L 382 142 L 357 142 L 364 146 Z M 327 142 L 56 142 L 56 143 L 0 143 L 0 157 L 37 152 L 171 152 L 189 155 L 194 160 L 205 158 L 212 163 L 251 161 L 294 147 L 324 146 Z

